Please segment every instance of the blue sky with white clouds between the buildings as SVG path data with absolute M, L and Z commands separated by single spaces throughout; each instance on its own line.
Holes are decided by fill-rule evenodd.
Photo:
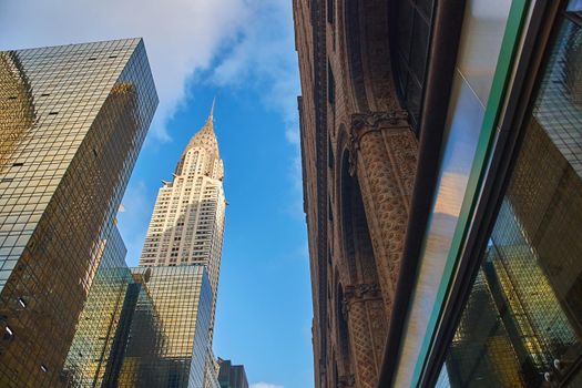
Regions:
M 120 214 L 130 265 L 137 263 L 161 180 L 171 178 L 216 96 L 229 205 L 214 351 L 244 364 L 253 388 L 308 388 L 314 380 L 290 3 L 0 2 L 0 50 L 145 40 L 160 108 Z

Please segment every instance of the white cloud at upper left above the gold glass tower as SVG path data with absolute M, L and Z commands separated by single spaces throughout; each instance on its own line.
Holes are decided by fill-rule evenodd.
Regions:
M 169 141 L 165 124 L 185 103 L 186 83 L 233 41 L 249 17 L 246 0 L 52 0 L 0 2 L 0 49 L 143 37 L 160 106 L 151 129 Z

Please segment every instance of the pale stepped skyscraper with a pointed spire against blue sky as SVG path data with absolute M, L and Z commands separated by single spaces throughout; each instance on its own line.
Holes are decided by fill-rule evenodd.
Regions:
M 213 111 L 214 104 L 204 126 L 184 149 L 172 182 L 163 182 L 160 188 L 140 258 L 140 266 L 205 265 L 213 293 L 211 323 L 226 207 Z

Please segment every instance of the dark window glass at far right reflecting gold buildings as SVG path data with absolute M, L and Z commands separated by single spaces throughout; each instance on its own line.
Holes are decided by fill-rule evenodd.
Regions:
M 582 28 L 562 18 L 439 387 L 582 386 Z

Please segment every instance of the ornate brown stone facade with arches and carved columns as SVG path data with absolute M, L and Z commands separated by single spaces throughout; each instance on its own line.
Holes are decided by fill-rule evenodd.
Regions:
M 417 164 L 389 2 L 294 0 L 316 387 L 376 387 Z

